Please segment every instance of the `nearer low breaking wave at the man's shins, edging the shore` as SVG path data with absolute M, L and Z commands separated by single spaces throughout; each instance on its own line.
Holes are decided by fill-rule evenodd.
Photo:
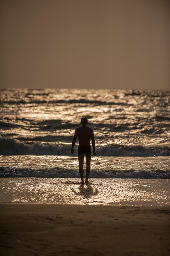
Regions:
M 42 169 L 9 169 L 0 168 L 0 177 L 40 177 L 40 178 L 79 178 L 78 170 L 69 168 L 51 168 L 48 170 Z M 135 178 L 135 179 L 169 179 L 170 171 L 145 171 L 145 170 L 92 170 L 91 178 Z

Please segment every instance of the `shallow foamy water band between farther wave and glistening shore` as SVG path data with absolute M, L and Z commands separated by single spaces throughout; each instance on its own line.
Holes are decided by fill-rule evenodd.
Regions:
M 0 177 L 79 177 L 77 157 L 0 157 Z M 84 172 L 86 165 L 84 166 Z M 91 178 L 170 178 L 169 157 L 92 157 Z

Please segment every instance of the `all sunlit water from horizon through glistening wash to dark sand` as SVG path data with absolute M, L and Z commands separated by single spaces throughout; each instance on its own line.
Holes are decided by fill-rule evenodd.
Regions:
M 0 100 L 0 201 L 169 204 L 170 91 L 5 89 Z M 96 140 L 89 186 L 77 144 L 70 153 L 82 116 Z

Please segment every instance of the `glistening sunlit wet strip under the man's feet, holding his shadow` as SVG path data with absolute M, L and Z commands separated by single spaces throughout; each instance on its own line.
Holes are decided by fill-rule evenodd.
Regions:
M 1 178 L 0 202 L 169 206 L 169 180 Z

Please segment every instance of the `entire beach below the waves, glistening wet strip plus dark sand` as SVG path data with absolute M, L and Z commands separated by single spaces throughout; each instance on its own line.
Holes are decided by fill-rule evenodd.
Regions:
M 169 255 L 168 179 L 1 178 L 2 255 Z

